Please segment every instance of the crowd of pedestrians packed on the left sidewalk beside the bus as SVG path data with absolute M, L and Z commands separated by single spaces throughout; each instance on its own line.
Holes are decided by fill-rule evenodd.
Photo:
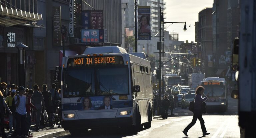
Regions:
M 0 129 L 2 138 L 7 138 L 5 129 L 9 130 L 12 137 L 25 138 L 33 137 L 32 131 L 39 131 L 40 125 L 51 124 L 52 114 L 56 110 L 55 101 L 60 100 L 61 90 L 56 90 L 56 84 L 52 84 L 47 90 L 47 85 L 38 85 L 33 89 L 7 85 L 2 82 L 0 85 Z M 47 112 L 48 120 L 44 120 L 44 113 Z M 31 127 L 35 122 L 35 128 Z

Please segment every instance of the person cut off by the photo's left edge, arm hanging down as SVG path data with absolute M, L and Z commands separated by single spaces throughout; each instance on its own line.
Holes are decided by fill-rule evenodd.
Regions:
M 2 92 L 0 91 L 0 129 L 1 129 L 1 133 L 2 133 L 2 138 L 7 138 L 7 136 L 4 132 L 4 114 L 5 114 L 4 108 L 9 112 L 9 114 L 12 114 L 8 105 L 4 101 L 4 96 L 3 96 Z

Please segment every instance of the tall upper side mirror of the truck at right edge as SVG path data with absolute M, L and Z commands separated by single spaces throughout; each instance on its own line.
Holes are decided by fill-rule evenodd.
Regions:
M 238 71 L 239 69 L 239 38 L 236 37 L 235 40 L 233 41 L 233 51 L 232 51 L 232 70 L 233 71 Z

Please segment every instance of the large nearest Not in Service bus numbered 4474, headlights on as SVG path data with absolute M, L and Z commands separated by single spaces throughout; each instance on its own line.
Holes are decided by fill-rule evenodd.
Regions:
M 151 127 L 150 61 L 118 46 L 63 57 L 62 127 L 71 135 L 101 127 Z

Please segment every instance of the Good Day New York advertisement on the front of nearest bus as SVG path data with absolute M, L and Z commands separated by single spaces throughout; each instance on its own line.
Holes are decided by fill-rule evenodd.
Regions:
M 110 96 L 82 98 L 82 110 L 113 109 Z

